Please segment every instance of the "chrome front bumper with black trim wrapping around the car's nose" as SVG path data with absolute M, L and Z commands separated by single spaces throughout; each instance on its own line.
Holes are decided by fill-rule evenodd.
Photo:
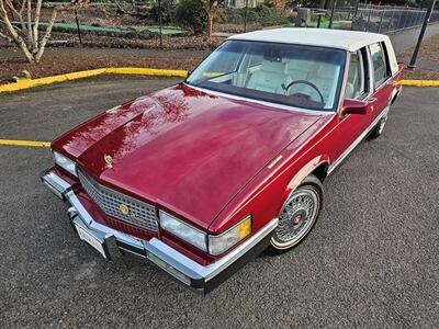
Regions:
M 262 252 L 269 245 L 271 232 L 278 226 L 278 218 L 272 219 L 229 253 L 204 266 L 157 238 L 142 240 L 95 222 L 82 206 L 70 184 L 56 173 L 45 171 L 41 179 L 56 196 L 69 204 L 68 214 L 74 227 L 79 226 L 104 246 L 104 257 L 115 259 L 121 250 L 133 253 L 154 263 L 185 285 L 204 293 Z

